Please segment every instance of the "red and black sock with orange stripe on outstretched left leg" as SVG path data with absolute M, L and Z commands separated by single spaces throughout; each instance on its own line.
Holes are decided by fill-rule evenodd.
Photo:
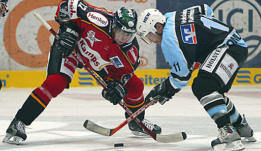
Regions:
M 40 87 L 32 91 L 15 117 L 25 125 L 30 125 L 44 111 L 51 99 L 63 91 L 67 82 L 68 79 L 59 74 L 48 76 Z

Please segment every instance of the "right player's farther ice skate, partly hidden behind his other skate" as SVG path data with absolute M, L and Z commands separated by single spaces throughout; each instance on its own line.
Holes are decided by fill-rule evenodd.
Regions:
M 241 137 L 241 142 L 255 142 L 253 130 L 246 122 L 245 114 L 243 114 L 243 118 L 241 124 L 239 126 L 235 126 L 239 136 Z

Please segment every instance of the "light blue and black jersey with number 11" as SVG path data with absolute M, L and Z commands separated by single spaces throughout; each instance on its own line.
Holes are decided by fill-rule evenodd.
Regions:
M 172 67 L 170 81 L 174 88 L 186 86 L 195 63 L 202 64 L 214 49 L 234 44 L 247 47 L 236 29 L 214 18 L 206 4 L 164 16 L 167 21 L 161 48 Z

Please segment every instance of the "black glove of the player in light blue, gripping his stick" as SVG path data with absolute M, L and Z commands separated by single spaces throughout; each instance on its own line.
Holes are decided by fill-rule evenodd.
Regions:
M 146 96 L 145 101 L 149 99 L 157 99 L 158 102 L 163 105 L 165 102 L 169 101 L 172 96 L 174 96 L 180 89 L 172 87 L 170 83 L 170 77 L 164 80 L 162 83 L 154 86 L 150 93 Z

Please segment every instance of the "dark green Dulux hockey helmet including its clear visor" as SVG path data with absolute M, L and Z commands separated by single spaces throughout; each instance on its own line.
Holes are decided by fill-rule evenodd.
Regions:
M 134 9 L 126 9 L 121 7 L 113 14 L 113 29 L 114 38 L 119 38 L 118 40 L 124 43 L 132 42 L 136 35 L 136 24 L 138 20 L 138 14 Z M 121 32 L 120 35 L 117 32 Z M 122 35 L 128 36 L 129 38 L 125 40 Z M 125 37 L 126 38 L 126 37 Z

